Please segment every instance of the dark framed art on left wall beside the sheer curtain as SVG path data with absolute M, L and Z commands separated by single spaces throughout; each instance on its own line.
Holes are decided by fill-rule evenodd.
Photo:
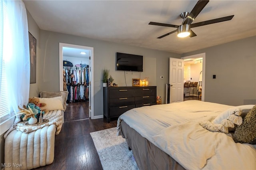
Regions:
M 36 83 L 36 38 L 28 32 L 30 55 L 30 83 Z

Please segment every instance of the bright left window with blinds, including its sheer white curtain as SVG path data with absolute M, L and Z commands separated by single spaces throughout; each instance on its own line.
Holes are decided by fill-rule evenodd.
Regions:
M 0 132 L 20 121 L 14 113 L 28 103 L 28 20 L 22 0 L 0 0 Z

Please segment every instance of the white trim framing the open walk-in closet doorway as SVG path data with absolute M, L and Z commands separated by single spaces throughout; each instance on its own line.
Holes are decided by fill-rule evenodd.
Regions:
M 89 69 L 90 69 L 90 88 L 89 88 L 89 117 L 91 119 L 94 119 L 94 49 L 93 47 L 87 47 L 82 45 L 74 45 L 74 44 L 68 44 L 68 43 L 59 43 L 59 67 L 60 67 L 60 91 L 63 91 L 63 47 L 70 47 L 70 48 L 79 48 L 79 49 L 86 49 L 90 50 L 90 63 L 89 63 Z

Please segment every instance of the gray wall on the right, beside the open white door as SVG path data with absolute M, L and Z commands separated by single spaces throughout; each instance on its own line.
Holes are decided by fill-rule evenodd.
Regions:
M 182 57 L 198 53 L 206 53 L 205 101 L 256 104 L 256 36 L 184 53 Z

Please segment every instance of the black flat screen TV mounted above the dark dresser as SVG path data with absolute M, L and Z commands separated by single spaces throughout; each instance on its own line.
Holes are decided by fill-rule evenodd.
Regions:
M 143 71 L 143 56 L 116 53 L 116 70 L 120 71 Z

